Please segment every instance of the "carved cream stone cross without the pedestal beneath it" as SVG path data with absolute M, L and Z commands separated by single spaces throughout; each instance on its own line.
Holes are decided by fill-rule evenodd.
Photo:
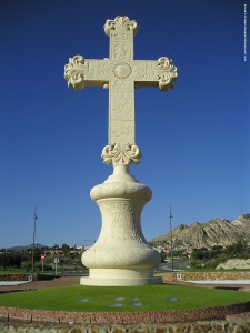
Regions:
M 64 69 L 68 85 L 109 88 L 109 145 L 104 147 L 104 163 L 129 165 L 138 163 L 140 149 L 134 142 L 134 87 L 173 88 L 177 68 L 172 60 L 133 59 L 133 36 L 138 24 L 128 17 L 107 20 L 104 32 L 110 37 L 109 59 L 92 60 L 82 56 L 69 59 Z

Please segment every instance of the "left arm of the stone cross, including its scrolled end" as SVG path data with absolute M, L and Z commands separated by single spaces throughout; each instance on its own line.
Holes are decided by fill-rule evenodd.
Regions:
M 64 67 L 64 79 L 69 88 L 81 90 L 84 87 L 103 87 L 109 82 L 110 61 L 84 59 L 74 56 Z

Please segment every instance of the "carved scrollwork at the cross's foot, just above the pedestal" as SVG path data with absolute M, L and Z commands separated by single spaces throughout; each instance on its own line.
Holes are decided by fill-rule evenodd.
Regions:
M 109 144 L 102 150 L 101 157 L 106 164 L 129 165 L 139 163 L 141 155 L 140 148 L 136 144 Z

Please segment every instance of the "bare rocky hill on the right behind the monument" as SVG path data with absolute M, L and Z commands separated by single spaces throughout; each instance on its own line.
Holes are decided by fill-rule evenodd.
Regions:
M 152 244 L 170 243 L 171 233 L 151 240 Z M 250 214 L 243 214 L 233 221 L 226 219 L 210 220 L 203 224 L 179 224 L 172 231 L 173 245 L 186 249 L 210 249 L 214 245 L 227 246 L 239 240 L 250 242 Z

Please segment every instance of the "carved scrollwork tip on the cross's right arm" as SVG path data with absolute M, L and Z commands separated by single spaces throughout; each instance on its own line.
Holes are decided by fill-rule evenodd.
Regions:
M 177 68 L 173 65 L 172 60 L 167 57 L 161 57 L 157 61 L 159 88 L 161 90 L 169 90 L 173 88 L 173 83 L 177 80 Z

